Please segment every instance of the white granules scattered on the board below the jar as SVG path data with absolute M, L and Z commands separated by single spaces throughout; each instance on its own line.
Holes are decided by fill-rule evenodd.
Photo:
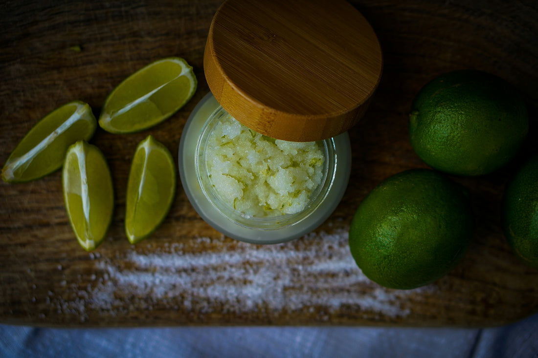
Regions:
M 215 239 L 223 240 L 223 239 Z M 196 244 L 211 243 L 198 238 Z M 336 312 L 342 306 L 388 317 L 410 313 L 401 301 L 415 290 L 388 290 L 369 281 L 357 268 L 348 248 L 348 233 L 310 234 L 280 245 L 256 246 L 237 242 L 220 252 L 189 253 L 171 244 L 165 252 L 126 253 L 118 266 L 106 257 L 95 260 L 99 277 L 73 302 L 58 302 L 66 312 L 86 310 L 126 313 L 133 307 L 208 313 L 302 310 L 318 306 Z M 135 248 L 136 249 L 136 248 Z M 129 303 L 129 304 L 128 304 Z M 84 318 L 82 318 L 84 319 Z

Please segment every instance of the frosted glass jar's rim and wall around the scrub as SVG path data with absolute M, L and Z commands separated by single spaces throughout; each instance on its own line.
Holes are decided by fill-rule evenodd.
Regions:
M 306 207 L 293 214 L 254 217 L 234 210 L 215 191 L 206 167 L 205 148 L 211 130 L 228 113 L 206 95 L 190 114 L 179 146 L 183 189 L 196 212 L 221 233 L 253 244 L 278 244 L 301 237 L 321 225 L 336 209 L 348 185 L 351 167 L 349 136 L 343 133 L 318 142 L 323 152 L 323 178 Z

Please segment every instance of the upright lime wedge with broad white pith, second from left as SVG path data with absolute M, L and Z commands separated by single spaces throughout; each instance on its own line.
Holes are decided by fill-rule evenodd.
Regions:
M 87 251 L 101 244 L 114 211 L 112 176 L 103 153 L 86 141 L 67 150 L 63 200 L 79 244 Z

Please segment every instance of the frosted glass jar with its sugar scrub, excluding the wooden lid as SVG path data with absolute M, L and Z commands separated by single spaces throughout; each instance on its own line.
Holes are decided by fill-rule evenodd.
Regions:
M 209 113 L 209 114 L 208 114 Z M 347 133 L 273 139 L 240 124 L 208 94 L 183 130 L 179 168 L 195 210 L 231 238 L 275 244 L 321 225 L 347 187 Z

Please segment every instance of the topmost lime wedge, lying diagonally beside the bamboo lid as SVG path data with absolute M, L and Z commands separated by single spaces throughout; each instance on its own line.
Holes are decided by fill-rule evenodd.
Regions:
M 155 61 L 126 78 L 108 96 L 99 125 L 111 133 L 145 130 L 178 111 L 194 95 L 193 68 L 181 58 Z

